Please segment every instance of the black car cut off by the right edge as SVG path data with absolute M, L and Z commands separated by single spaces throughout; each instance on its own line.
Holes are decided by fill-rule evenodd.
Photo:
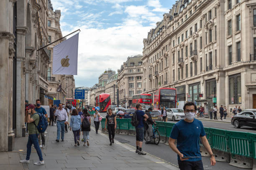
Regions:
M 256 128 L 256 109 L 247 109 L 231 117 L 231 124 L 235 128 L 241 126 Z

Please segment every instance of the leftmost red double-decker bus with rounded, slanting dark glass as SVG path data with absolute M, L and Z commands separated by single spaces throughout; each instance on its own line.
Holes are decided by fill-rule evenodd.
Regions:
M 102 93 L 95 97 L 95 106 L 100 107 L 100 112 L 106 112 L 109 105 L 111 105 L 110 94 Z

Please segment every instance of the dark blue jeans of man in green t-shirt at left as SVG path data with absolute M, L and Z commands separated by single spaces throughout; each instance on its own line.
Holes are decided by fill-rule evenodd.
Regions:
M 39 157 L 39 160 L 42 161 L 43 159 L 43 155 L 41 152 L 41 149 L 39 147 L 39 143 L 38 143 L 38 134 L 31 134 L 28 135 L 28 143 L 27 143 L 27 156 L 26 156 L 26 160 L 29 160 L 30 158 L 30 154 L 31 154 L 31 146 L 32 144 L 34 145 L 35 149 L 36 149 L 36 153 Z

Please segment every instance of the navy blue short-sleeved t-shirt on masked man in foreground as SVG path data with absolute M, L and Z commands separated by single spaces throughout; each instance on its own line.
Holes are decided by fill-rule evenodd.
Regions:
M 199 161 L 202 160 L 199 146 L 200 137 L 202 136 L 205 136 L 202 122 L 194 119 L 191 123 L 185 120 L 177 122 L 172 128 L 170 138 L 177 139 L 177 148 L 184 157 L 200 157 L 185 161 Z M 179 155 L 178 160 L 180 160 Z

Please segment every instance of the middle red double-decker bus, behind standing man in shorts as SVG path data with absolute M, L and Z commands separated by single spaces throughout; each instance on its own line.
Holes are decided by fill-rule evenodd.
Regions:
M 133 95 L 132 107 L 136 109 L 136 104 L 141 103 L 143 108 L 148 109 L 151 107 L 152 97 L 150 94 L 138 94 Z

